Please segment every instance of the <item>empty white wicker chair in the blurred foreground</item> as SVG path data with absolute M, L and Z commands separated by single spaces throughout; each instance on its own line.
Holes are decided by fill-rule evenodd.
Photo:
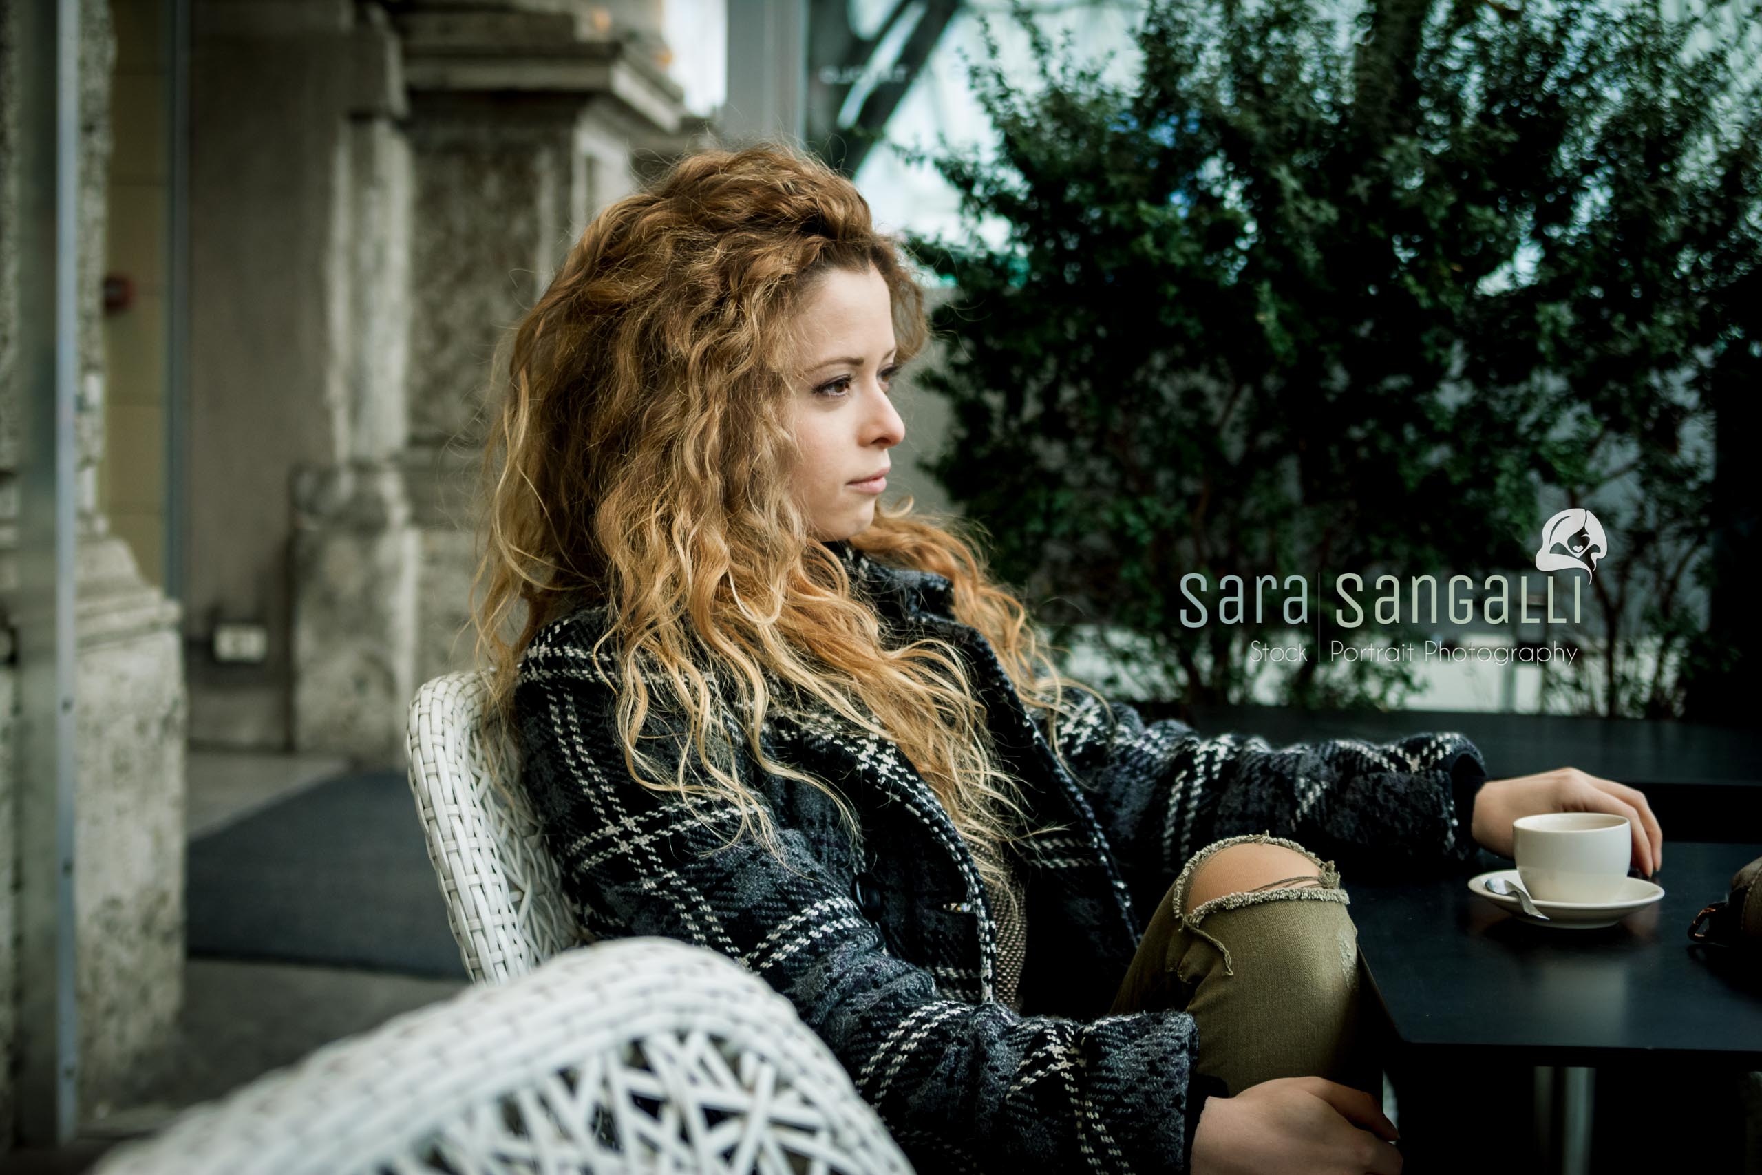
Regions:
M 95 1175 L 911 1175 L 837 1059 L 715 951 L 617 939 L 326 1045 Z

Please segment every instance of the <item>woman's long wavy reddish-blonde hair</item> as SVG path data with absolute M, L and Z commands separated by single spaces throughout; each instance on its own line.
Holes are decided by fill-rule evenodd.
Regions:
M 492 400 L 472 592 L 490 715 L 513 722 L 518 661 L 539 629 L 604 606 L 594 662 L 610 645 L 636 784 L 731 802 L 735 837 L 756 831 L 781 860 L 724 738 L 742 729 L 763 772 L 819 787 L 860 837 L 837 787 L 759 740 L 766 715 L 832 713 L 900 749 L 999 888 L 1006 844 L 1062 826 L 1029 826 L 960 652 L 932 638 L 892 647 L 791 495 L 802 305 L 825 271 L 869 266 L 886 280 L 904 363 L 930 331 L 900 247 L 846 178 L 777 144 L 682 157 L 581 233 L 499 345 L 506 386 Z M 955 618 L 1047 712 L 1057 750 L 1064 691 L 1089 687 L 1059 675 L 1022 602 L 988 578 L 976 534 L 913 516 L 904 497 L 849 543 L 946 576 Z M 638 745 L 652 715 L 684 735 L 673 763 Z M 744 722 L 729 728 L 729 715 Z

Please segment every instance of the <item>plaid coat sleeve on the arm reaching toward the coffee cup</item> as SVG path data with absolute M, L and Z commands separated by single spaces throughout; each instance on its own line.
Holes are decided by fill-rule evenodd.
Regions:
M 1175 719 L 1147 724 L 1129 705 L 1073 694 L 1078 713 L 1059 722 L 1059 750 L 1136 874 L 1135 902 L 1154 904 L 1193 853 L 1240 833 L 1288 837 L 1360 874 L 1441 868 L 1478 847 L 1470 824 L 1485 766 L 1462 735 L 1274 749 Z

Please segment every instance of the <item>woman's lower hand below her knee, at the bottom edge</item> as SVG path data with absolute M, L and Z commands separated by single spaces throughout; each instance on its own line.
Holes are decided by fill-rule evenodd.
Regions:
M 1207 1097 L 1188 1168 L 1193 1175 L 1399 1175 L 1396 1138 L 1396 1124 L 1362 1089 L 1279 1076 L 1235 1097 Z

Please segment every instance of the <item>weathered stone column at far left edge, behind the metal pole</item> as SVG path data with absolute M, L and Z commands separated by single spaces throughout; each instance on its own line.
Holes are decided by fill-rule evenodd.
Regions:
M 12 5 L 0 7 L 16 28 Z M 97 463 L 104 453 L 102 275 L 106 190 L 111 157 L 111 65 L 116 39 L 104 0 L 81 5 L 79 46 L 79 402 L 78 447 L 78 601 L 76 601 L 76 997 L 79 1016 L 79 1106 L 85 1119 L 137 1096 L 169 1055 L 183 997 L 183 657 L 178 608 L 146 583 L 129 546 L 109 532 L 97 509 Z M 0 37 L 0 79 L 12 78 L 11 32 Z M 23 375 L 16 363 L 19 298 L 18 248 L 18 95 L 0 85 L 0 615 L 28 625 L 28 602 L 16 601 L 16 518 L 12 490 L 16 410 Z M 35 456 L 35 454 L 33 454 Z M 12 648 L 11 631 L 0 641 Z M 0 699 L 12 713 L 11 666 Z M 11 812 L 16 780 L 12 740 L 0 719 L 0 810 Z M 11 821 L 0 821 L 7 840 Z M 0 860 L 11 865 L 11 844 Z M 11 872 L 11 870 L 9 870 Z M 11 904 L 7 888 L 4 902 Z M 11 911 L 9 911 L 11 914 Z M 0 937 L 0 1043 L 12 1057 L 16 978 L 11 918 Z M 0 1066 L 4 1071 L 7 1066 Z M 0 1105 L 9 1108 L 0 1087 Z M 11 1113 L 4 1126 L 11 1136 Z

